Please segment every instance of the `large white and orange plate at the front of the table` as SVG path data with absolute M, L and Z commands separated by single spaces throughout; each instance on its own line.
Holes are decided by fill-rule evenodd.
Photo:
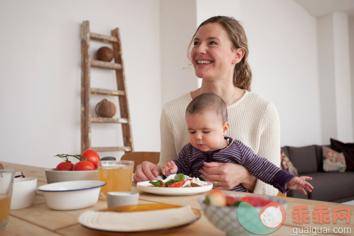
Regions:
M 86 211 L 79 223 L 87 228 L 111 232 L 145 232 L 187 226 L 200 219 L 200 211 L 190 206 L 167 204 L 112 207 Z M 157 220 L 156 220 L 157 219 Z

